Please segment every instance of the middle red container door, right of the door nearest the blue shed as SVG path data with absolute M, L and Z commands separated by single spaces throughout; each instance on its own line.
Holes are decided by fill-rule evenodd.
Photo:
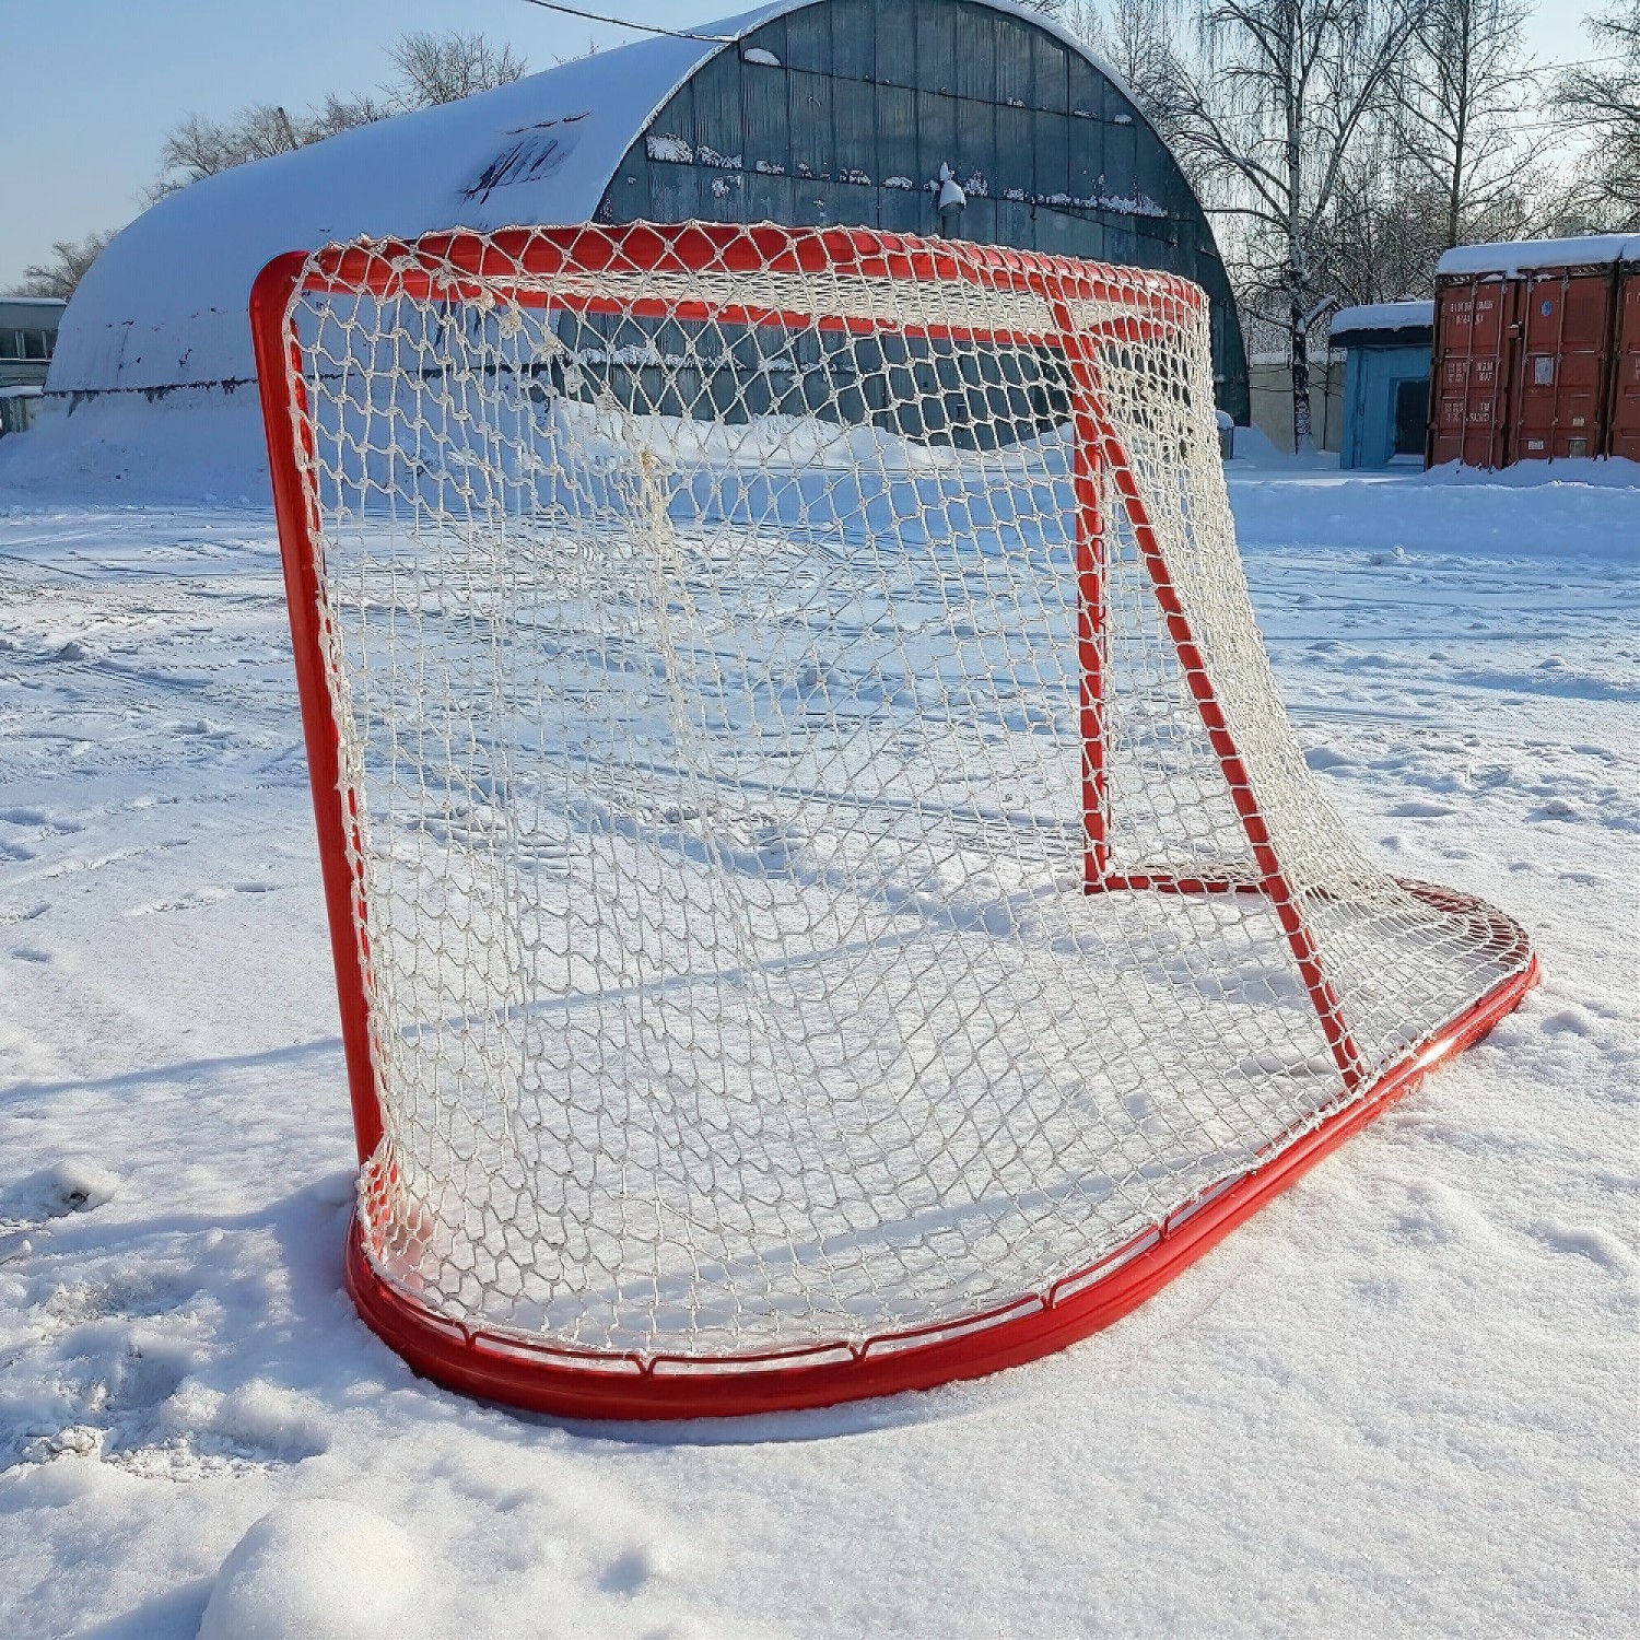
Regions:
M 1612 271 L 1528 274 L 1522 313 L 1515 459 L 1602 449 Z

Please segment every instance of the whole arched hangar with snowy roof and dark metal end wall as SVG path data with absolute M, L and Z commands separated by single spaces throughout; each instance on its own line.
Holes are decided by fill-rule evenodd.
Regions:
M 251 280 L 280 251 L 690 216 L 943 231 L 1184 274 L 1214 302 L 1220 407 L 1246 420 L 1230 284 L 1189 182 L 1120 77 L 1009 0 L 772 0 L 208 177 L 98 259 L 48 392 L 248 384 Z

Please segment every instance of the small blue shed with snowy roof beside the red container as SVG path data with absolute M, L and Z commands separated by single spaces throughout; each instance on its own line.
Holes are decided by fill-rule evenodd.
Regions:
M 1340 467 L 1424 466 L 1430 417 L 1433 302 L 1340 308 L 1333 353 L 1343 353 Z

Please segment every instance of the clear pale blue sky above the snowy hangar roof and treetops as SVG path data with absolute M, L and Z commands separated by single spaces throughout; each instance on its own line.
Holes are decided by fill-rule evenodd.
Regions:
M 577 0 L 579 3 L 579 0 Z M 589 0 L 672 28 L 753 0 Z M 1589 3 L 1538 0 L 1532 51 L 1586 57 Z M 166 131 L 187 113 L 225 118 L 253 102 L 300 108 L 387 77 L 384 46 L 413 28 L 482 30 L 535 69 L 597 41 L 638 36 L 554 16 L 525 0 L 7 0 L 0 290 L 54 239 L 118 228 L 154 179 Z

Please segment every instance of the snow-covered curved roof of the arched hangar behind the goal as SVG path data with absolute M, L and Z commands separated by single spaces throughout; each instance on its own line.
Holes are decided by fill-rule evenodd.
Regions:
M 638 39 L 195 182 L 144 212 L 92 266 L 64 315 L 49 390 L 251 380 L 251 282 L 284 251 L 359 235 L 587 221 L 622 156 L 708 57 L 812 3 L 769 0 L 695 31 L 717 39 Z M 981 3 L 1046 30 L 1122 87 L 1040 11 Z

